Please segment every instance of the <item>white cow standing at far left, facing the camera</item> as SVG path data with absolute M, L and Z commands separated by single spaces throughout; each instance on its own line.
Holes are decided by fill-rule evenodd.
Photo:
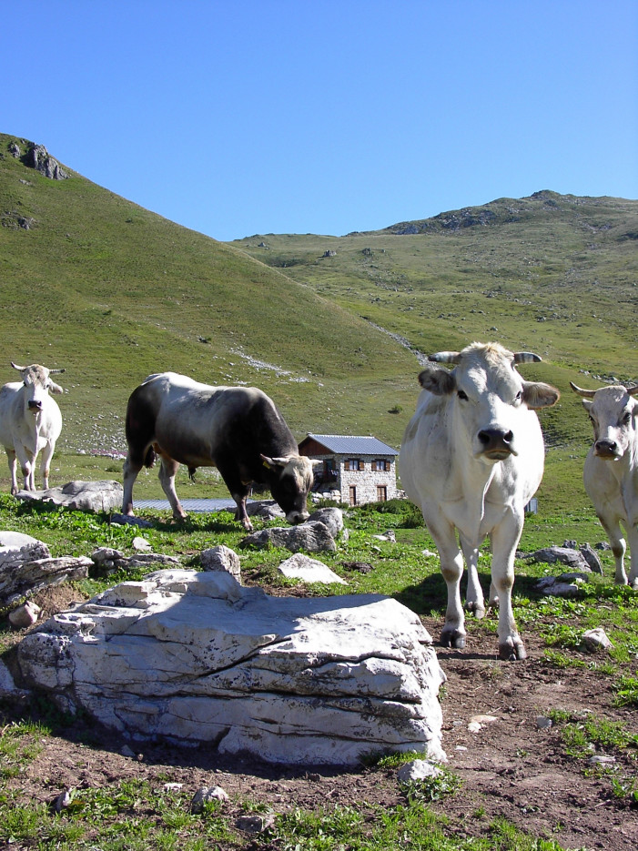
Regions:
M 50 376 L 65 370 L 47 370 L 39 363 L 19 367 L 22 381 L 10 381 L 0 389 L 0 443 L 5 447 L 11 473 L 11 492 L 17 493 L 15 460 L 25 477 L 25 491 L 35 491 L 35 460 L 42 451 L 43 487 L 49 486 L 49 469 L 62 431 L 62 414 L 52 393 L 63 393 Z

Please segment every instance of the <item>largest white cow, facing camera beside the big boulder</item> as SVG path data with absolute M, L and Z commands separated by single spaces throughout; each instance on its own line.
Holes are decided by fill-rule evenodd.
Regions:
M 455 369 L 432 363 L 420 373 L 423 390 L 401 445 L 400 475 L 423 512 L 448 586 L 441 643 L 465 646 L 463 556 L 467 608 L 477 617 L 485 613 L 477 561 L 489 535 L 490 602 L 498 598 L 500 605 L 499 655 L 524 659 L 511 588 L 524 506 L 542 480 L 544 448 L 534 409 L 553 405 L 560 393 L 549 384 L 522 380 L 516 370 L 519 363 L 541 360 L 538 355 L 513 354 L 498 343 L 472 343 L 430 360 L 453 363 Z

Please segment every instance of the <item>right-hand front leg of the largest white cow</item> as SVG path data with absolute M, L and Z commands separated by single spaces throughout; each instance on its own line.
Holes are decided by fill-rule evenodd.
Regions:
M 499 657 L 509 662 L 527 656 L 511 604 L 514 557 L 521 532 L 522 515 L 519 517 L 514 512 L 508 512 L 491 533 L 491 582 L 499 597 Z

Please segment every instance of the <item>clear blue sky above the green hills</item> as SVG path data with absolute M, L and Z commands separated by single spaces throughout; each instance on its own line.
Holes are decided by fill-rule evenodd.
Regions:
M 636 0 L 6 3 L 0 131 L 218 239 L 638 198 Z

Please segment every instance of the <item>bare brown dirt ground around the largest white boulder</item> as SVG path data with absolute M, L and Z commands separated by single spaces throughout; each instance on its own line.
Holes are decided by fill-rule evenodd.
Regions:
M 64 588 L 41 595 L 48 615 L 66 608 Z M 66 599 L 65 599 L 66 596 Z M 426 620 L 437 635 L 441 623 Z M 450 821 L 459 836 L 481 836 L 502 816 L 533 836 L 553 838 L 569 849 L 603 848 L 635 851 L 638 809 L 612 793 L 608 777 L 584 771 L 586 763 L 565 755 L 557 726 L 539 729 L 537 717 L 552 709 L 591 710 L 599 717 L 622 721 L 636 731 L 637 714 L 612 709 L 607 679 L 586 669 L 559 670 L 542 661 L 543 648 L 533 633 L 525 634 L 528 658 L 499 662 L 484 641 L 469 636 L 464 652 L 438 648 L 448 683 L 442 694 L 443 747 L 449 769 L 461 777 L 461 789 L 432 808 Z M 496 718 L 478 733 L 468 730 L 474 714 Z M 86 745 L 90 734 L 91 744 Z M 276 813 L 294 807 L 392 805 L 405 802 L 396 770 L 363 768 L 339 771 L 258 765 L 240 758 L 219 757 L 204 749 L 180 750 L 145 746 L 124 756 L 126 743 L 113 734 L 74 725 L 46 738 L 28 776 L 9 782 L 25 801 L 51 802 L 69 787 L 105 787 L 123 778 L 147 780 L 161 788 L 183 784 L 194 794 L 204 785 L 220 785 L 230 797 L 229 810 L 240 815 L 242 802 L 260 802 Z M 624 776 L 635 775 L 626 752 L 611 753 Z

